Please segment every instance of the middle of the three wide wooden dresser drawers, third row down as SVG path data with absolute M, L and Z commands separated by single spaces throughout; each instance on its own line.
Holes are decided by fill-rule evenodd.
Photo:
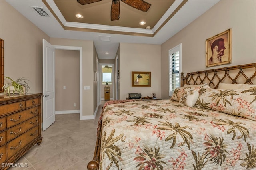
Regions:
M 6 130 L 7 142 L 20 136 L 20 134 L 26 132 L 28 129 L 38 125 L 38 116 L 28 119 L 25 122 L 22 122 L 14 127 L 8 128 Z

